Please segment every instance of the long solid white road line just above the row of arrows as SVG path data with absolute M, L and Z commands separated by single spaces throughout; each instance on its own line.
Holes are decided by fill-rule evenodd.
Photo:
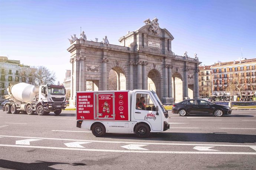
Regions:
M 68 141 L 81 141 L 81 142 L 100 142 L 100 143 L 127 143 L 127 144 L 144 144 L 144 145 L 182 145 L 182 146 L 209 146 L 209 144 L 195 144 L 195 143 L 150 143 L 150 142 L 122 142 L 122 141 L 100 141 L 100 140 L 78 140 L 78 139 L 62 139 L 62 138 L 46 138 L 46 137 L 25 137 L 25 136 L 5 136 L 0 137 L 16 137 L 16 138 L 33 138 L 33 139 L 49 139 L 49 140 L 68 140 Z M 210 144 L 211 146 L 233 146 L 233 147 L 250 147 L 256 145 L 219 145 Z

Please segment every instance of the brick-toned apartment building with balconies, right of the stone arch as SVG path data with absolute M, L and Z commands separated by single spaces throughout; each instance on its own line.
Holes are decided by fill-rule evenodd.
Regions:
M 242 58 L 238 61 L 218 62 L 211 65 L 212 95 L 252 96 L 256 88 L 256 59 Z

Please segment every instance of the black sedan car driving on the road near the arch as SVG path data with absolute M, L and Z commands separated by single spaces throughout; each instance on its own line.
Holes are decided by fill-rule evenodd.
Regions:
M 229 106 L 217 105 L 202 99 L 187 99 L 173 105 L 172 113 L 186 116 L 189 114 L 215 115 L 217 117 L 230 115 L 232 110 Z

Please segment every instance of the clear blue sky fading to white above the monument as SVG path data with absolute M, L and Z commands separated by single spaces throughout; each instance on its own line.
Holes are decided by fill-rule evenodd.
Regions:
M 256 58 L 256 0 L 0 0 L 0 56 L 45 66 L 63 82 L 71 69 L 68 38 L 120 45 L 144 20 L 158 18 L 172 51 L 202 65 Z

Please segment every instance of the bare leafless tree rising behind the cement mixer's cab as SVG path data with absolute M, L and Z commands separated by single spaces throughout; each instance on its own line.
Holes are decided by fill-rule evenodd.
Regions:
M 44 66 L 39 66 L 39 67 L 33 67 L 35 68 L 35 72 L 32 72 L 32 77 L 34 80 L 34 85 L 40 86 L 40 85 L 46 85 L 46 84 L 54 84 L 56 77 L 55 73 L 52 71 L 49 71 Z

